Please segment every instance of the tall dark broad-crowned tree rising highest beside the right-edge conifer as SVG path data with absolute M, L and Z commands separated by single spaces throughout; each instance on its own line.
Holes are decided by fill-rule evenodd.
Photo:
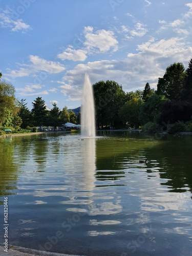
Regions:
M 170 100 L 181 100 L 185 76 L 182 63 L 175 62 L 168 66 L 164 76 L 158 80 L 157 94 L 165 95 Z

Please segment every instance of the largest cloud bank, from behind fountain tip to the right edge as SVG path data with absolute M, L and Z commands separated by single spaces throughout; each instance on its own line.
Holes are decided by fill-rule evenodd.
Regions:
M 84 73 L 90 75 L 92 84 L 99 80 L 115 80 L 122 84 L 123 90 L 130 91 L 143 89 L 146 82 L 156 88 L 158 77 L 162 77 L 166 67 L 174 62 L 183 62 L 188 65 L 189 56 L 192 55 L 190 44 L 182 38 L 170 38 L 157 41 L 151 38 L 139 45 L 138 53 L 127 54 L 122 60 L 101 60 L 79 64 L 67 71 L 63 79 L 70 81 L 73 88 L 82 88 Z M 64 87 L 68 96 L 71 87 Z

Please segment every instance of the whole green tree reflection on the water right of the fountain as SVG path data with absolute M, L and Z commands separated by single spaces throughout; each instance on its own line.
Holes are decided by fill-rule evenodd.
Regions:
M 179 137 L 179 135 L 119 133 L 111 138 L 106 137 L 96 141 L 96 168 L 98 172 L 123 170 L 129 168 L 123 163 L 126 161 L 137 163 L 138 159 L 144 156 L 149 160 L 147 173 L 153 172 L 154 163 L 158 163 L 160 178 L 166 179 L 161 185 L 166 185 L 169 191 L 173 192 L 184 192 L 189 187 L 192 192 L 191 145 L 190 135 Z M 100 176 L 97 173 L 98 179 Z

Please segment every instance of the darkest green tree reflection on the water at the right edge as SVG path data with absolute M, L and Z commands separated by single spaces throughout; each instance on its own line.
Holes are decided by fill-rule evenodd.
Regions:
M 154 156 L 159 162 L 160 178 L 167 179 L 162 182 L 172 192 L 192 192 L 192 173 L 190 158 L 192 154 L 192 136 L 166 136 L 166 143 L 148 150 L 147 155 Z

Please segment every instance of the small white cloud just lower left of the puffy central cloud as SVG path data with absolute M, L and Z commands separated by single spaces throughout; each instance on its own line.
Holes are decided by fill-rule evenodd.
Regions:
M 86 50 L 67 48 L 64 52 L 59 53 L 57 57 L 61 60 L 84 61 L 87 58 L 86 53 Z

